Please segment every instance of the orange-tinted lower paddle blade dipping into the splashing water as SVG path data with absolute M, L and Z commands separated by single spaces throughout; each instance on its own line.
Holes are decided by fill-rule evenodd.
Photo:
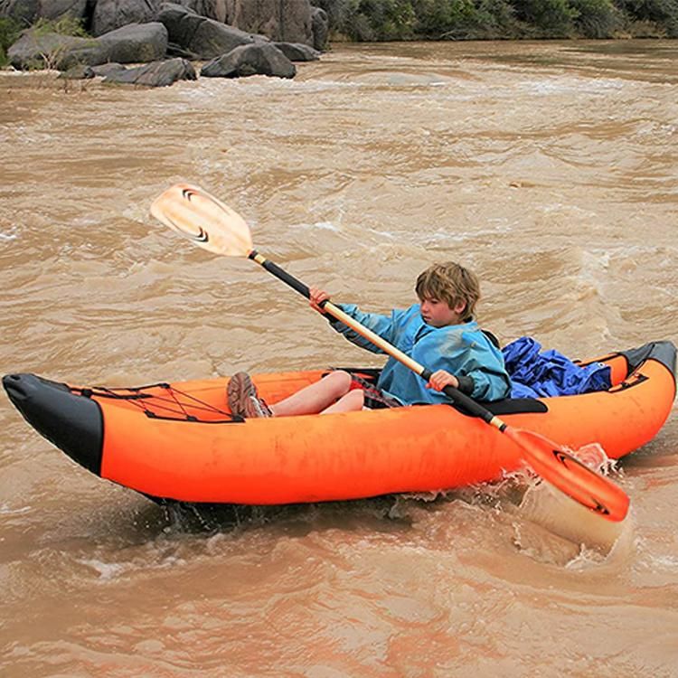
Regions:
M 504 435 L 523 449 L 525 461 L 537 475 L 560 492 L 609 521 L 616 523 L 626 518 L 628 495 L 609 478 L 596 473 L 538 433 L 506 427 Z

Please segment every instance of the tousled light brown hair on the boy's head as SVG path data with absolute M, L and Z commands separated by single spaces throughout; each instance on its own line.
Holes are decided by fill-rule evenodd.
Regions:
M 414 287 L 420 300 L 439 299 L 454 308 L 460 301 L 466 302 L 462 320 L 473 317 L 480 298 L 480 282 L 475 273 L 454 261 L 433 264 L 419 274 Z

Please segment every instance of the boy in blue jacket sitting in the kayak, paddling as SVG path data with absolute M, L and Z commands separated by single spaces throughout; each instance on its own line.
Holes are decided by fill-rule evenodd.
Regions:
M 389 358 L 377 381 L 378 396 L 372 407 L 445 402 L 447 397 L 440 391 L 447 385 L 476 400 L 507 398 L 511 381 L 502 353 L 473 320 L 480 298 L 476 275 L 454 262 L 433 264 L 419 275 L 415 290 L 419 304 L 407 310 L 395 309 L 391 315 L 364 313 L 357 306 L 340 305 L 344 313 L 433 372 L 426 384 L 418 374 Z M 328 298 L 324 291 L 310 289 L 310 303 L 316 311 L 325 314 L 321 304 Z M 329 315 L 327 318 L 353 344 L 382 353 L 350 327 Z M 259 399 L 250 377 L 238 372 L 229 383 L 229 404 L 234 414 L 243 417 L 361 410 L 365 392 L 352 385 L 348 372 L 331 372 L 325 379 L 268 406 Z

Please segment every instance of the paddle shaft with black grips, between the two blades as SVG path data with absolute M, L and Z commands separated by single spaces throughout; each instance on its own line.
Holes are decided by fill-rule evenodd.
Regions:
M 297 290 L 297 292 L 300 295 L 306 297 L 306 299 L 311 297 L 308 287 L 304 285 L 301 280 L 298 280 L 294 276 L 291 276 L 289 273 L 287 273 L 285 269 L 280 268 L 278 264 L 274 264 L 272 261 L 266 259 L 266 257 L 260 255 L 256 250 L 252 250 L 248 256 L 250 259 L 256 261 L 259 266 L 266 268 L 268 273 L 272 273 L 276 278 L 282 280 L 286 285 Z M 400 349 L 397 349 L 395 346 L 392 346 L 388 342 L 384 341 L 381 336 L 379 336 L 379 334 L 374 334 L 372 330 L 369 330 L 364 325 L 361 325 L 357 320 L 354 320 L 350 315 L 344 313 L 341 308 L 334 306 L 331 301 L 326 301 L 325 304 L 323 304 L 323 309 L 334 318 L 344 323 L 344 325 L 348 325 L 354 332 L 357 332 L 367 339 L 368 342 L 374 344 L 377 346 L 377 348 L 380 348 L 381 351 L 391 355 L 391 358 L 394 358 L 399 363 L 402 363 L 412 372 L 419 374 L 422 379 L 426 381 L 430 380 L 433 372 L 428 370 L 428 368 L 417 363 L 417 361 L 412 360 L 412 358 L 410 358 L 407 353 L 402 353 Z M 461 405 L 466 411 L 470 412 L 476 417 L 480 417 L 488 424 L 492 424 L 495 428 L 499 428 L 499 430 L 502 431 L 504 430 L 505 424 L 503 421 L 501 421 L 501 419 L 494 417 L 492 412 L 486 410 L 482 405 L 478 404 L 476 400 L 469 398 L 454 386 L 446 386 L 443 389 L 443 392 L 450 400 L 457 402 L 457 404 Z

